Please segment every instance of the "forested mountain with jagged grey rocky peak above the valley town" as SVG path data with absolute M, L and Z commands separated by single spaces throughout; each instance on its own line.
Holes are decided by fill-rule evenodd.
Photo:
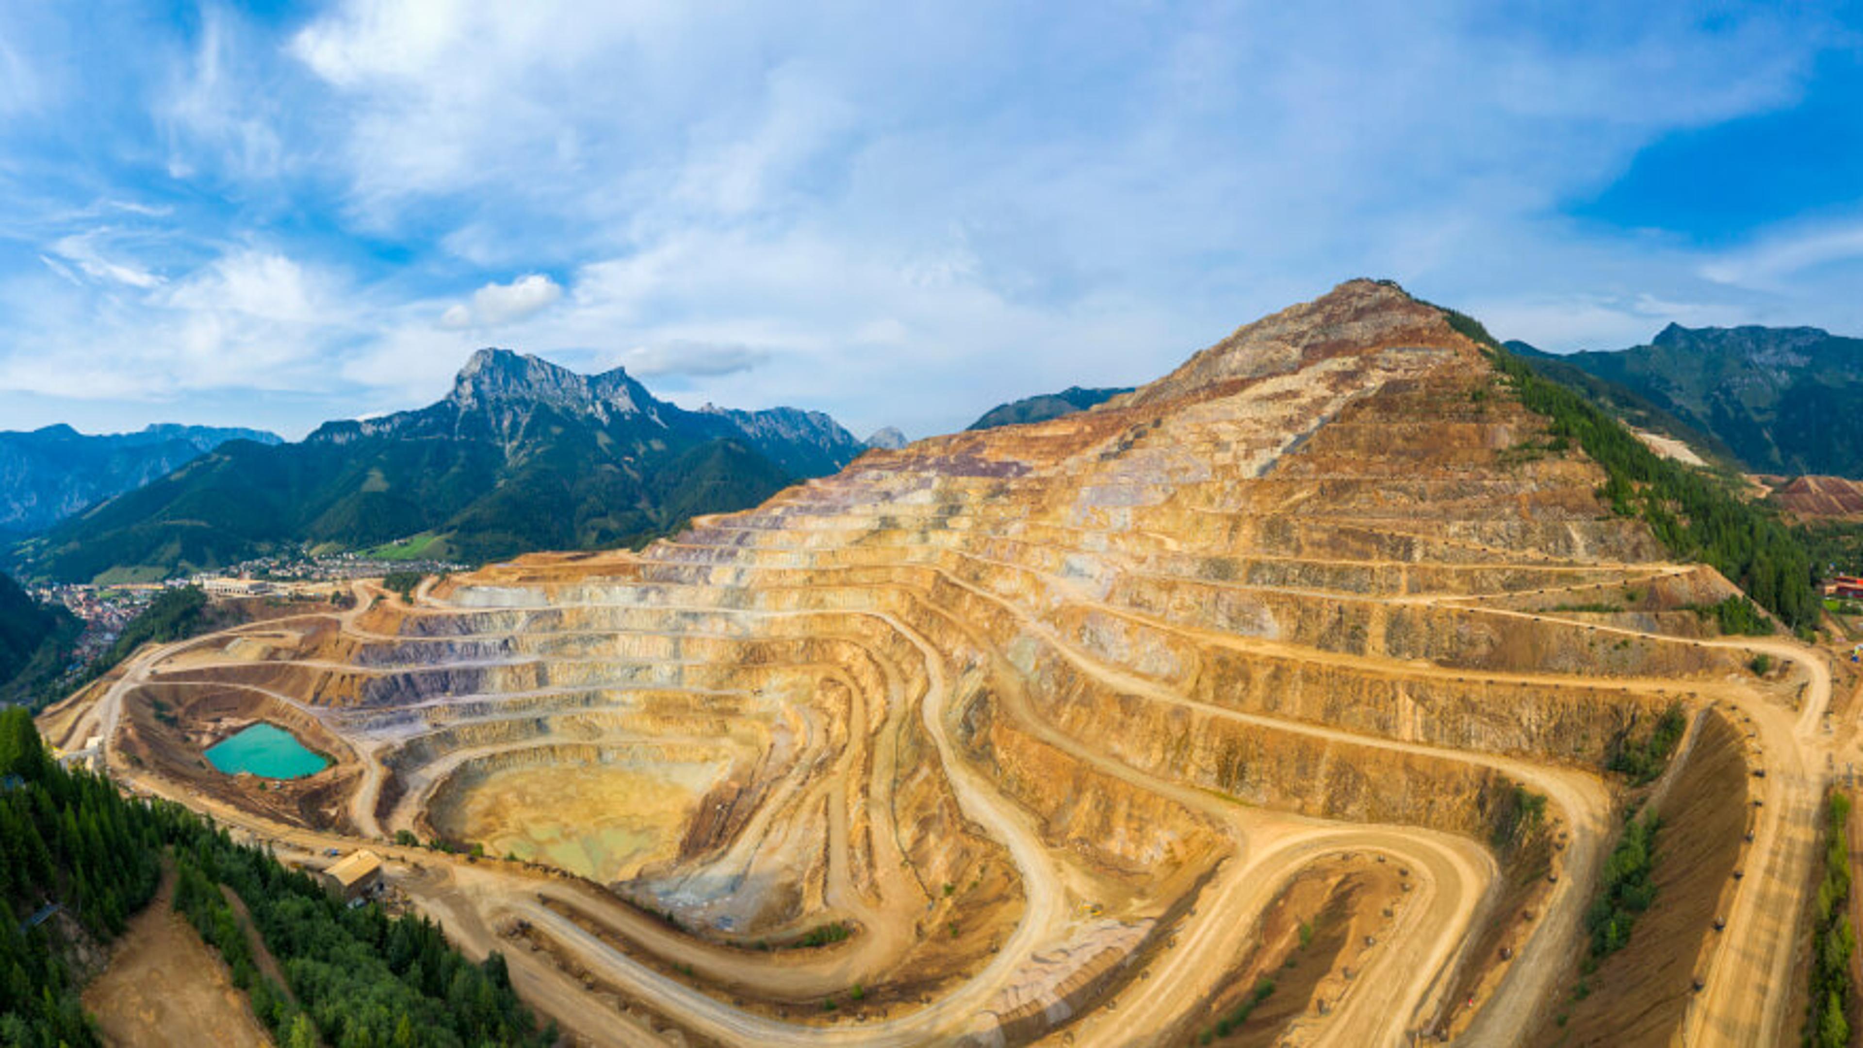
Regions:
M 430 407 L 233 442 L 15 548 L 20 572 L 132 580 L 285 545 L 484 561 L 646 541 L 756 505 L 864 446 L 820 412 L 656 399 L 624 369 L 578 375 L 483 349 Z

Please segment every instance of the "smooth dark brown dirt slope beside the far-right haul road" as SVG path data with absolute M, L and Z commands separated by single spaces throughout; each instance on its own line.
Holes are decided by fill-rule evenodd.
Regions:
M 1749 781 L 1740 731 L 1708 710 L 1658 807 L 1656 903 L 1638 919 L 1630 945 L 1597 972 L 1582 975 L 1572 958 L 1552 1022 L 1533 1044 L 1634 1048 L 1675 1039 L 1708 951 L 1738 947 L 1720 942 L 1714 921 L 1725 916 L 1744 862 Z

